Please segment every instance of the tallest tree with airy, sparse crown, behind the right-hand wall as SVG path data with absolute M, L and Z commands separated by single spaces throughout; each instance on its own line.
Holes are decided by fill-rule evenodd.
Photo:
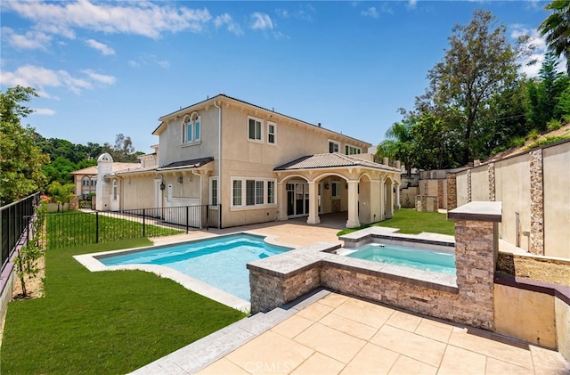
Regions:
M 491 12 L 477 10 L 467 25 L 456 25 L 449 37 L 444 59 L 428 71 L 429 86 L 420 105 L 435 107 L 442 113 L 460 112 L 456 122 L 462 134 L 457 147 L 462 149 L 461 164 L 466 164 L 479 142 L 481 118 L 493 94 L 501 93 L 517 80 L 525 37 L 511 46 L 506 28 L 496 25 Z M 423 102 L 423 103 L 422 103 Z

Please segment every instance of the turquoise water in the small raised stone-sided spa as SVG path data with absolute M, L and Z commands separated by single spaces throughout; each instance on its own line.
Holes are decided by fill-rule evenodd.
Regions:
M 438 273 L 455 274 L 455 254 L 444 251 L 407 248 L 403 246 L 384 245 L 378 243 L 362 245 L 356 252 L 346 257 L 382 262 L 390 265 L 403 265 Z

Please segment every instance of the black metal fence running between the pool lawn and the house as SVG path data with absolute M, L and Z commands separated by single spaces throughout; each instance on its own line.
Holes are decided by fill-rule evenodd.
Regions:
M 212 205 L 77 212 L 45 216 L 46 249 L 157 237 L 221 227 L 221 207 Z

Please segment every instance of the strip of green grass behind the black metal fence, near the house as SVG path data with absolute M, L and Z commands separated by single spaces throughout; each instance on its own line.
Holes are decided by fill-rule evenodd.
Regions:
M 142 223 L 77 211 L 48 215 L 46 222 L 47 249 L 182 233 L 172 228 L 145 224 L 143 234 Z

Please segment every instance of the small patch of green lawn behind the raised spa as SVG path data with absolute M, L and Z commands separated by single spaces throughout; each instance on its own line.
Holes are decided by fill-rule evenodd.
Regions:
M 370 226 L 399 228 L 401 233 L 406 234 L 418 234 L 420 232 L 455 234 L 455 224 L 447 220 L 446 214 L 440 214 L 438 212 L 418 212 L 413 208 L 401 208 L 394 212 L 394 216 L 391 219 L 371 225 L 362 225 L 359 228 L 345 229 L 338 232 L 337 235 L 341 236 Z

